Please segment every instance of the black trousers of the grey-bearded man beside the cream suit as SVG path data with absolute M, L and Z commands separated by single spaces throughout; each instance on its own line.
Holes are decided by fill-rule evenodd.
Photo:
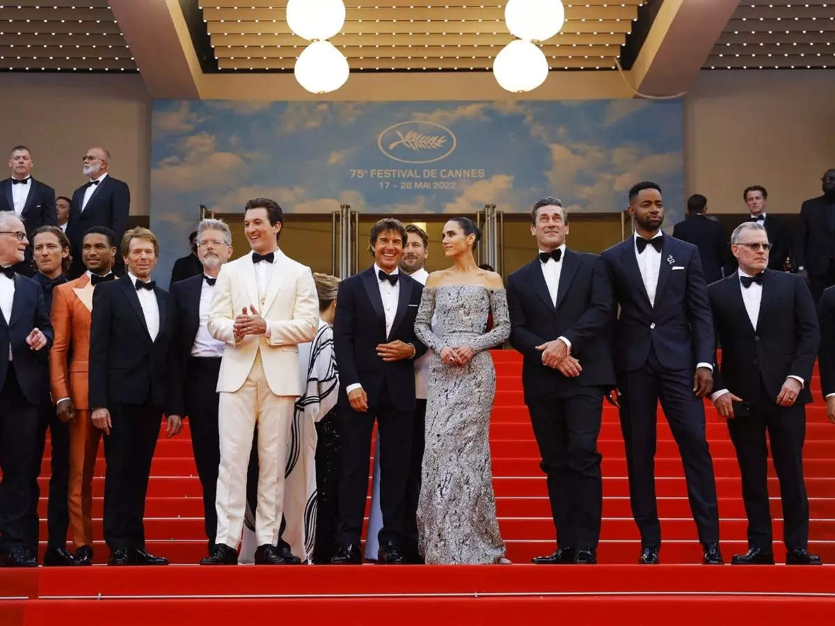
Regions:
M 217 535 L 215 494 L 220 467 L 220 436 L 217 426 L 219 394 L 215 389 L 219 372 L 220 356 L 192 356 L 185 381 L 185 414 L 189 416 L 191 447 L 203 487 L 203 515 L 210 550 Z

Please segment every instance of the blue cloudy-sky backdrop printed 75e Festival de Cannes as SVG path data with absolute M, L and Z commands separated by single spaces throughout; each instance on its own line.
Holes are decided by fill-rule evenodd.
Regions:
M 150 225 L 157 277 L 185 255 L 200 204 L 239 213 L 266 196 L 288 213 L 339 204 L 375 214 L 625 209 L 664 189 L 665 229 L 683 219 L 680 101 L 154 102 Z M 240 252 L 240 250 L 239 250 Z

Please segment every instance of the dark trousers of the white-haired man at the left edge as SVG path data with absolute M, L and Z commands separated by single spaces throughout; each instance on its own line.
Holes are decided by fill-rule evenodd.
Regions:
M 8 358 L 8 356 L 6 356 Z M 0 550 L 31 547 L 32 519 L 38 521 L 38 414 L 23 396 L 12 362 L 0 381 Z M 37 468 L 36 468 L 37 467 Z M 36 525 L 37 533 L 37 525 Z M 36 534 L 37 547 L 37 534 Z

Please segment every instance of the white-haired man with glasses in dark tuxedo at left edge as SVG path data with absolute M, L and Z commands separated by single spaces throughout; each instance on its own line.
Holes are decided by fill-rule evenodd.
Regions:
M 53 329 L 38 283 L 14 271 L 28 243 L 18 216 L 0 213 L 0 565 L 33 568 L 38 557 L 28 543 L 38 517 L 38 415 L 49 406 Z

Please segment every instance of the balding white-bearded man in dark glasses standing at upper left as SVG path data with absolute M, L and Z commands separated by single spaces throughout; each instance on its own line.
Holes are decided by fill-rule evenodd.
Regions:
M 85 271 L 81 262 L 81 241 L 91 226 L 107 226 L 118 241 L 128 228 L 130 189 L 128 185 L 110 175 L 110 153 L 104 148 L 91 148 L 84 154 L 82 173 L 89 177 L 73 193 L 69 208 L 67 236 L 73 244 L 73 266 L 69 278 L 74 279 Z M 122 274 L 123 261 L 116 260 L 114 272 Z

